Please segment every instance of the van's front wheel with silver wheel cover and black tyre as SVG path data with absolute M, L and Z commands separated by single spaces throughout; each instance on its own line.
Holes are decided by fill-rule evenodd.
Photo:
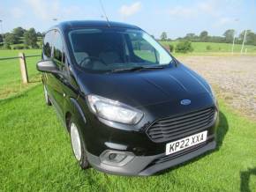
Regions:
M 83 140 L 80 139 L 81 137 L 77 124 L 72 120 L 69 125 L 69 130 L 73 154 L 79 162 L 79 166 L 81 166 L 82 169 L 87 169 L 89 167 L 89 163 L 87 160 L 85 144 L 83 143 Z

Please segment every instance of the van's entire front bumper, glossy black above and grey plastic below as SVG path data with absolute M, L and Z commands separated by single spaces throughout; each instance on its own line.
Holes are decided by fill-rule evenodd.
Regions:
M 209 100 L 211 101 L 211 99 Z M 201 106 L 198 105 L 190 105 L 188 106 L 191 107 L 189 109 L 185 107 L 177 111 L 174 110 L 172 111 L 173 114 L 169 114 L 169 108 L 172 106 L 172 103 L 149 106 L 147 110 L 142 111 L 150 111 L 152 115 L 145 115 L 145 118 L 135 126 L 109 122 L 97 118 L 90 113 L 86 114 L 89 118 L 87 119 L 87 126 L 85 129 L 82 129 L 82 138 L 86 144 L 87 159 L 90 165 L 108 174 L 151 175 L 171 166 L 182 164 L 187 160 L 200 156 L 206 151 L 214 150 L 216 147 L 215 132 L 218 125 L 218 115 L 216 115 L 217 118 L 214 122 L 208 124 L 205 129 L 200 129 L 200 131 L 208 131 L 206 142 L 194 145 L 183 151 L 177 151 L 168 156 L 165 155 L 166 144 L 179 138 L 188 137 L 188 133 L 181 134 L 179 138 L 175 138 L 174 140 L 160 143 L 152 141 L 147 136 L 146 130 L 155 119 L 161 119 L 162 117 L 175 114 L 189 113 L 195 111 L 197 108 L 200 109 L 207 106 L 205 102 L 200 103 Z M 213 104 L 208 106 L 212 107 Z M 190 135 L 192 134 L 196 134 L 196 132 Z M 134 158 L 123 166 L 113 166 L 102 162 L 102 153 L 111 150 L 130 152 L 134 154 Z

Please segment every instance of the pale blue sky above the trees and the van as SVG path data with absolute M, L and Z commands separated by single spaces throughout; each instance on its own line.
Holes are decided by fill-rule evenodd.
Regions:
M 222 35 L 230 28 L 237 34 L 245 29 L 256 32 L 256 0 L 102 0 L 102 4 L 109 20 L 139 26 L 155 37 L 166 32 L 174 39 L 203 30 Z M 57 22 L 85 19 L 105 19 L 100 0 L 0 0 L 4 33 L 17 26 L 44 32 Z

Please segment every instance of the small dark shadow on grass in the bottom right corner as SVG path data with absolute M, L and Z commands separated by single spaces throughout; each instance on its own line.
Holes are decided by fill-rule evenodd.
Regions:
M 245 172 L 240 172 L 240 191 L 241 192 L 251 192 L 252 190 L 250 189 L 249 186 L 249 181 L 250 181 L 250 177 L 252 176 L 252 174 L 256 175 L 256 167 L 254 168 L 248 168 L 247 171 Z

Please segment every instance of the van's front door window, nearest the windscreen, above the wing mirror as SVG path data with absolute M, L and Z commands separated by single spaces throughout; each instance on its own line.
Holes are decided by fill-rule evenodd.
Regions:
M 64 42 L 62 41 L 61 34 L 58 31 L 55 31 L 53 41 L 53 59 L 60 70 L 64 70 L 64 58 Z

